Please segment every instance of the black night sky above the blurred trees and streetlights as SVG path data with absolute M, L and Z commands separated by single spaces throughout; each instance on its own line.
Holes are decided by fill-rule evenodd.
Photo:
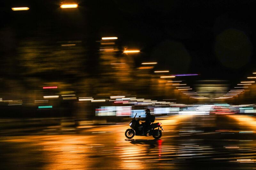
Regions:
M 28 37 L 94 43 L 117 36 L 120 47 L 141 50 L 137 65 L 157 62 L 156 69 L 171 74 L 236 84 L 255 71 L 253 0 L 76 2 L 78 9 L 62 10 L 56 0 L 2 1 L 0 57 Z M 14 6 L 30 10 L 12 11 Z

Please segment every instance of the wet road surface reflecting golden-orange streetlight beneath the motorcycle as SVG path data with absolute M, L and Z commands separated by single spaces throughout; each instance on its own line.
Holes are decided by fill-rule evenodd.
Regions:
M 127 124 L 87 129 L 47 127 L 0 137 L 0 169 L 254 169 L 256 119 L 245 115 L 175 115 L 163 136 L 126 139 Z

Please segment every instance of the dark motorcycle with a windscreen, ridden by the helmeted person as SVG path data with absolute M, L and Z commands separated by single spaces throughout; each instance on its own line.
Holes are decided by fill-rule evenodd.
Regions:
M 132 121 L 129 124 L 132 129 L 127 129 L 125 131 L 125 137 L 127 137 L 128 139 L 132 139 L 134 136 L 145 136 L 143 123 L 140 124 L 140 116 L 139 119 L 135 119 L 136 115 L 133 117 Z M 162 123 L 159 122 L 151 123 L 149 127 L 149 132 L 146 136 L 152 135 L 155 139 L 159 139 L 160 137 L 162 137 L 162 130 L 164 131 L 164 129 L 162 126 L 160 126 L 161 124 Z M 162 130 L 160 130 L 159 128 Z

